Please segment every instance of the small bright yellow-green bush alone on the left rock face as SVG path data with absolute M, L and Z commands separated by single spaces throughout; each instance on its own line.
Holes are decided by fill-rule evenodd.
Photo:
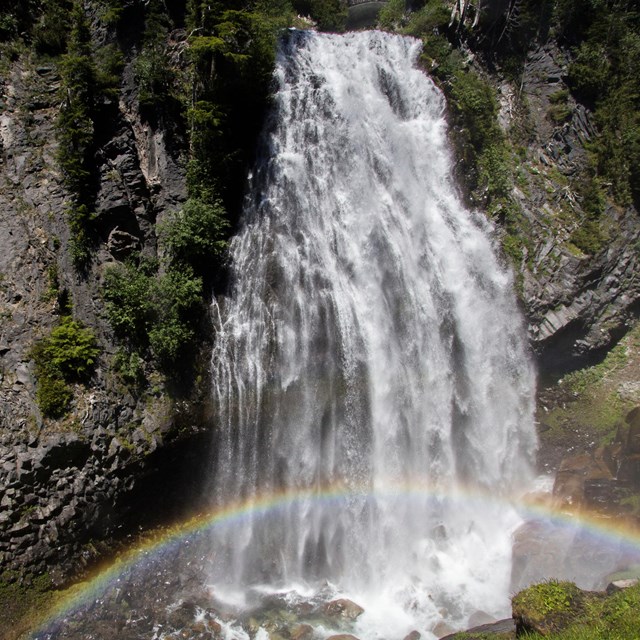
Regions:
M 30 357 L 35 363 L 36 401 L 42 415 L 61 418 L 73 399 L 71 382 L 87 382 L 100 349 L 94 333 L 70 316 L 61 318 L 51 333 L 38 340 Z

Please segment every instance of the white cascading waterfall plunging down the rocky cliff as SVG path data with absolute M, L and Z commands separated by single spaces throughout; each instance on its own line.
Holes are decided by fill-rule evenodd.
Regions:
M 418 54 L 377 32 L 289 34 L 216 307 L 217 503 L 311 495 L 219 532 L 212 582 L 328 582 L 365 607 L 362 638 L 508 613 L 506 498 L 535 448 L 511 276 L 455 193 Z

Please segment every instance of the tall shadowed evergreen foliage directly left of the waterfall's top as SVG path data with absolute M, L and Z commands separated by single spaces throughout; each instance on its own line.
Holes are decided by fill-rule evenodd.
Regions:
M 292 12 L 284 0 L 192 2 L 187 109 L 189 195 L 237 210 L 269 102 L 278 33 Z

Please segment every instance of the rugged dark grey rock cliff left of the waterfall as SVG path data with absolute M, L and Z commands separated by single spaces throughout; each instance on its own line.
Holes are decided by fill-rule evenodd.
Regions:
M 49 572 L 60 582 L 136 516 L 167 516 L 199 495 L 208 437 L 202 407 L 178 412 L 161 393 L 134 397 L 117 380 L 100 295 L 105 265 L 156 255 L 156 220 L 185 199 L 184 149 L 141 121 L 128 69 L 120 105 L 100 123 L 98 246 L 78 274 L 55 159 L 58 90 L 53 64 L 26 59 L 0 86 L 0 574 Z M 50 421 L 35 402 L 29 350 L 57 322 L 61 294 L 102 355 L 91 385 L 74 388 L 70 415 Z

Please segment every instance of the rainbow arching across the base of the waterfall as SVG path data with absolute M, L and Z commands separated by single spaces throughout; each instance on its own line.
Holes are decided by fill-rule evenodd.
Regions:
M 456 486 L 454 489 L 434 488 L 425 483 L 396 484 L 383 491 L 359 491 L 343 485 L 323 489 L 287 491 L 253 497 L 243 502 L 232 502 L 214 511 L 199 513 L 185 522 L 164 528 L 145 542 L 134 546 L 119 556 L 106 568 L 99 569 L 87 581 L 71 587 L 65 595 L 47 611 L 30 637 L 41 637 L 56 621 L 79 612 L 84 606 L 106 594 L 118 581 L 126 579 L 136 567 L 164 552 L 173 549 L 199 535 L 214 532 L 217 527 L 241 524 L 247 517 L 265 517 L 296 502 L 308 500 L 334 504 L 336 507 L 347 499 L 390 498 L 402 500 L 434 500 L 438 502 L 471 503 L 473 506 L 511 507 L 523 521 L 542 520 L 552 526 L 570 527 L 593 536 L 603 545 L 621 545 L 640 553 L 640 530 L 628 523 L 604 518 L 587 511 L 558 510 L 540 499 L 496 496 L 477 488 Z

